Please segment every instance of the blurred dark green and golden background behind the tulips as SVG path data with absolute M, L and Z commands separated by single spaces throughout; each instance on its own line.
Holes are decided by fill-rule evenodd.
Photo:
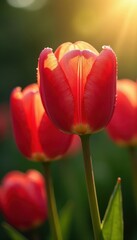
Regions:
M 83 40 L 98 51 L 110 45 L 118 59 L 118 78 L 137 77 L 136 0 L 1 0 L 0 1 L 0 179 L 11 170 L 40 170 L 18 151 L 11 130 L 9 97 L 16 86 L 36 82 L 39 53 L 44 47 Z M 3 117 L 4 115 L 4 117 Z M 124 232 L 137 239 L 137 211 L 132 191 L 130 155 L 102 131 L 91 137 L 91 151 L 101 218 L 118 177 L 122 178 Z M 53 163 L 59 211 L 73 205 L 68 239 L 90 240 L 91 220 L 81 152 Z M 1 223 L 3 222 L 1 216 Z M 48 234 L 48 224 L 40 229 Z M 0 226 L 0 239 L 8 237 Z M 43 239 L 46 239 L 43 237 Z

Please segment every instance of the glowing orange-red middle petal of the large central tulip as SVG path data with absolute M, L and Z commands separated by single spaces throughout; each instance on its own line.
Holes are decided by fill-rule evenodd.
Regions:
M 74 125 L 83 123 L 85 119 L 81 112 L 84 87 L 96 57 L 89 50 L 72 50 L 60 61 L 74 98 Z

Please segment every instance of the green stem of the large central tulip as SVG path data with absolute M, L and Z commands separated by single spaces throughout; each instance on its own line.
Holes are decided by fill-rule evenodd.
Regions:
M 101 220 L 98 208 L 92 159 L 90 157 L 90 135 L 82 135 L 81 143 L 85 166 L 85 177 L 95 240 L 102 240 Z

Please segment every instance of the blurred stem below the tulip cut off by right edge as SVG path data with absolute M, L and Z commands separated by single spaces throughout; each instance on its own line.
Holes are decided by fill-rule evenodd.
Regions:
M 131 155 L 133 191 L 134 191 L 135 204 L 136 204 L 136 210 L 137 210 L 137 154 L 136 154 L 136 148 L 130 147 L 129 151 L 130 151 L 130 155 Z

